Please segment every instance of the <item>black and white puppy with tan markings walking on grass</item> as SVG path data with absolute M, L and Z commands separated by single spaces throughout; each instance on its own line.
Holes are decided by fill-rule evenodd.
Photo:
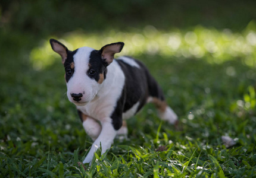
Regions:
M 76 105 L 83 128 L 94 141 L 83 163 L 90 163 L 99 147 L 102 154 L 107 151 L 117 134 L 127 135 L 123 119 L 135 115 L 147 102 L 155 104 L 161 119 L 176 123 L 177 115 L 145 65 L 127 56 L 114 59 L 123 42 L 100 50 L 80 47 L 74 51 L 55 39 L 50 43 L 62 58 L 68 100 Z

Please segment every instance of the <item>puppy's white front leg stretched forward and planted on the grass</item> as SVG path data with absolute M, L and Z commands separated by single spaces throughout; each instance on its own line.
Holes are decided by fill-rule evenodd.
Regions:
M 101 147 L 101 154 L 104 154 L 104 152 L 106 152 L 107 149 L 111 147 L 115 135 L 117 134 L 117 131 L 115 131 L 114 126 L 111 123 L 111 120 L 111 118 L 107 118 L 101 122 L 101 134 L 99 134 L 98 138 L 95 140 L 95 142 L 93 142 L 88 155 L 86 156 L 85 160 L 83 160 L 83 163 L 90 163 L 92 161 L 94 152 L 98 148 Z

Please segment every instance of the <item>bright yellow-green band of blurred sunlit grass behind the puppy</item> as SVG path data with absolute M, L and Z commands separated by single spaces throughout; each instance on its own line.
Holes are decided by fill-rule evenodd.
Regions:
M 108 43 L 121 41 L 126 45 L 120 55 L 160 55 L 170 59 L 172 56 L 180 59 L 196 58 L 210 63 L 241 58 L 245 65 L 255 66 L 256 63 L 256 24 L 253 21 L 241 33 L 230 29 L 216 30 L 201 26 L 191 30 L 170 31 L 160 31 L 153 26 L 146 26 L 142 30 L 111 30 L 104 33 L 73 31 L 61 38 L 55 38 L 70 50 L 82 46 L 100 49 Z M 45 68 L 56 59 L 57 55 L 52 52 L 49 39 L 43 40 L 42 45 L 35 47 L 30 53 L 35 69 Z

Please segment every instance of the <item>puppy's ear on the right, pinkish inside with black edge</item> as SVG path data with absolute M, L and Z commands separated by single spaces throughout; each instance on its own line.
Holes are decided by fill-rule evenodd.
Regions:
M 100 50 L 101 58 L 105 60 L 108 65 L 110 65 L 110 63 L 113 62 L 115 53 L 120 53 L 123 49 L 123 46 L 123 42 L 111 43 L 109 45 L 103 46 Z

